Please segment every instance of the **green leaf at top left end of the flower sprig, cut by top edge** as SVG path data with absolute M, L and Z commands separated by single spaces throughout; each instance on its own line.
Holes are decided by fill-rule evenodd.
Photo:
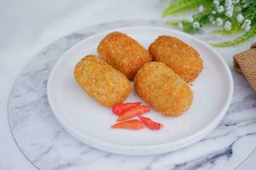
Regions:
M 165 17 L 170 14 L 178 14 L 210 3 L 212 3 L 212 0 L 177 0 L 170 3 L 162 15 Z

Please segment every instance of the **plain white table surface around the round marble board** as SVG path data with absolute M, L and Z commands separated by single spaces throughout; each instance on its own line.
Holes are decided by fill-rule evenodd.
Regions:
M 98 23 L 127 19 L 161 20 L 160 13 L 165 5 L 157 0 L 3 1 L 0 7 L 0 169 L 36 169 L 21 155 L 12 139 L 7 103 L 15 77 L 38 51 L 60 37 Z M 239 48 L 247 48 L 253 40 L 256 39 L 241 44 Z M 253 169 L 255 158 L 256 152 L 238 169 Z

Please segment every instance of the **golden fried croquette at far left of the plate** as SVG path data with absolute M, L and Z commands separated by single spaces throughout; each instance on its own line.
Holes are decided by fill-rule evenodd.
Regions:
M 96 55 L 81 59 L 74 77 L 87 94 L 109 107 L 122 103 L 131 92 L 131 82 L 125 75 Z

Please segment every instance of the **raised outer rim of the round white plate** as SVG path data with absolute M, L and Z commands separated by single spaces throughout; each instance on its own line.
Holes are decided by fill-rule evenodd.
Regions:
M 201 43 L 203 46 L 205 46 L 206 48 L 210 49 L 211 52 L 213 54 L 215 54 L 218 59 L 221 61 L 222 65 L 224 65 L 224 70 L 227 73 L 228 76 L 228 82 L 229 82 L 229 92 L 228 92 L 228 97 L 225 100 L 225 104 L 223 105 L 223 107 L 221 108 L 221 111 L 219 111 L 218 116 L 215 116 L 212 121 L 210 123 L 207 124 L 207 126 L 202 127 L 200 130 L 196 131 L 195 133 L 190 134 L 189 136 L 183 137 L 181 139 L 177 139 L 171 142 L 167 142 L 167 143 L 163 143 L 163 144 L 148 144 L 148 145 L 124 145 L 124 144 L 113 144 L 113 143 L 109 143 L 106 141 L 102 141 L 100 139 L 95 139 L 91 136 L 88 135 L 84 135 L 84 133 L 79 132 L 77 129 L 73 128 L 72 126 L 68 126 L 68 123 L 61 118 L 61 116 L 59 116 L 57 114 L 57 111 L 55 109 L 55 106 L 53 104 L 53 101 L 51 99 L 51 95 L 50 94 L 50 84 L 51 82 L 53 82 L 53 75 L 55 73 L 55 70 L 57 68 L 57 66 L 61 63 L 61 60 L 65 58 L 65 56 L 67 56 L 67 54 L 73 50 L 73 48 L 76 48 L 77 46 L 79 46 L 80 44 L 82 44 L 84 41 L 88 41 L 89 39 L 93 39 L 94 37 L 97 37 L 99 35 L 102 34 L 107 34 L 110 31 L 116 31 L 117 29 L 137 29 L 137 28 L 144 28 L 144 29 L 158 29 L 158 30 L 164 30 L 164 31 L 172 31 L 174 33 L 177 34 L 181 34 L 185 37 L 189 37 L 190 39 L 193 39 L 195 42 Z M 171 150 L 178 150 L 181 149 L 185 146 L 188 146 L 190 144 L 194 144 L 196 141 L 202 139 L 203 137 L 205 137 L 208 133 L 211 133 L 212 130 L 218 126 L 219 122 L 221 122 L 221 120 L 224 118 L 226 112 L 228 111 L 230 104 L 231 104 L 231 100 L 233 97 L 233 92 L 234 92 L 234 81 L 233 81 L 233 77 L 230 71 L 230 67 L 228 66 L 228 64 L 226 63 L 226 61 L 222 58 L 222 56 L 214 49 L 212 48 L 209 44 L 207 44 L 207 42 L 203 42 L 201 41 L 199 38 L 197 37 L 193 37 L 183 31 L 177 31 L 174 30 L 172 28 L 167 28 L 167 27 L 161 27 L 161 26 L 120 26 L 120 27 L 116 27 L 113 29 L 109 29 L 108 31 L 100 31 L 97 32 L 96 34 L 91 35 L 90 37 L 85 37 L 84 39 L 82 39 L 80 42 L 75 43 L 71 48 L 68 48 L 67 51 L 65 53 L 63 53 L 61 55 L 61 57 L 59 59 L 57 59 L 57 61 L 55 62 L 55 65 L 52 67 L 50 73 L 49 73 L 49 77 L 48 77 L 48 81 L 47 81 L 47 99 L 49 102 L 49 106 L 51 111 L 54 113 L 56 120 L 58 122 L 60 122 L 61 127 L 63 127 L 68 133 L 70 133 L 74 138 L 79 139 L 80 141 L 82 141 L 84 144 L 89 144 L 92 147 L 95 147 L 97 149 L 100 150 L 105 150 L 105 151 L 109 151 L 109 152 L 113 152 L 113 153 L 118 153 L 118 154 L 123 154 L 123 155 L 152 155 L 152 154 L 128 154 L 125 153 L 125 151 L 120 151 L 120 150 L 156 150 L 156 149 L 166 149 L 166 147 L 170 147 Z M 86 140 L 86 141 L 84 141 Z M 172 147 L 174 145 L 180 144 L 180 147 L 176 147 L 176 149 L 172 149 Z M 99 146 L 101 145 L 101 147 Z M 102 147 L 103 146 L 103 147 Z M 120 149 L 120 150 L 113 150 L 113 149 Z M 169 150 L 162 150 L 162 151 L 154 151 L 157 152 L 155 154 L 160 154 L 160 153 L 164 153 L 164 152 L 168 152 L 171 151 Z M 154 153 L 153 153 L 154 154 Z

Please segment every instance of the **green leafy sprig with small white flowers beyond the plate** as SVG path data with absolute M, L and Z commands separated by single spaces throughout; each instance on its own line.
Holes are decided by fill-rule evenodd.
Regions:
M 209 24 L 219 27 L 212 31 L 215 34 L 231 35 L 244 31 L 233 41 L 212 43 L 215 47 L 246 42 L 256 34 L 256 0 L 175 0 L 165 9 L 163 16 L 196 8 L 198 13 L 188 20 L 170 20 L 166 23 L 189 33 L 196 33 Z

